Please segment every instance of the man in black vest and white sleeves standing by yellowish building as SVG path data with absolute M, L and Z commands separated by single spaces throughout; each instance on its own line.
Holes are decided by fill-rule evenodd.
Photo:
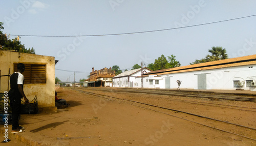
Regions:
M 24 98 L 25 103 L 29 103 L 29 100 L 27 99 L 23 91 L 24 76 L 22 73 L 25 70 L 25 65 L 22 63 L 19 63 L 17 66 L 17 69 L 18 71 L 13 73 L 10 77 L 11 90 L 8 93 L 10 98 L 10 105 L 12 108 L 12 132 L 11 133 L 22 132 L 22 129 L 24 129 L 18 124 L 18 117 L 20 115 L 20 104 L 21 104 L 20 102 L 21 102 L 21 99 Z

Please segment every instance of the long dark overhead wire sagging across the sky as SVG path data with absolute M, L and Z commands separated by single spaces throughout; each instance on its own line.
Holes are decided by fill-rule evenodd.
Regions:
M 245 16 L 245 17 L 239 17 L 239 18 L 227 19 L 227 20 L 222 20 L 222 21 L 209 22 L 209 23 L 196 24 L 196 25 L 190 25 L 190 26 L 167 28 L 167 29 L 163 29 L 163 30 L 132 32 L 132 33 L 120 33 L 120 34 L 81 35 L 81 36 L 79 36 L 79 35 L 67 35 L 67 36 L 57 36 L 57 35 L 53 35 L 53 36 L 51 36 L 51 35 L 10 35 L 10 36 L 23 36 L 23 37 L 97 37 L 97 36 L 129 35 L 129 34 L 140 34 L 140 33 L 152 33 L 152 32 L 160 32 L 160 31 L 177 30 L 177 29 L 180 29 L 180 28 L 208 25 L 208 24 L 232 21 L 232 20 L 243 19 L 243 18 L 254 17 L 254 16 L 256 16 L 256 15 L 250 15 L 250 16 Z

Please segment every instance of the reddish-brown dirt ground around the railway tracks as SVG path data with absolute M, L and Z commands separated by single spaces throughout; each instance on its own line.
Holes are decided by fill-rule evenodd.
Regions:
M 38 145 L 256 145 L 255 140 L 141 108 L 127 101 L 106 100 L 66 87 L 60 87 L 56 91 L 58 98 L 66 99 L 70 106 L 57 113 L 46 111 L 22 115 L 20 125 L 26 127 L 26 130 L 19 133 L 19 137 L 29 137 L 37 141 Z M 153 95 L 147 97 L 146 94 L 126 96 L 133 100 L 143 98 L 143 102 L 154 102 L 169 108 L 256 128 L 256 103 L 180 97 L 187 101 L 247 107 L 251 110 L 248 111 L 181 101 L 164 101 L 158 99 L 157 95 L 154 99 Z M 10 128 L 11 126 L 9 130 Z M 1 129 L 3 130 L 2 126 Z M 10 142 L 0 145 L 27 145 L 15 140 L 11 134 L 9 137 L 12 139 Z M 26 138 L 23 141 L 26 142 Z

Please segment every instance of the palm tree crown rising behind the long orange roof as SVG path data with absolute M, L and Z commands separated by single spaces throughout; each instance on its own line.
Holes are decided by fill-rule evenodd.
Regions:
M 208 52 L 210 52 L 211 55 L 206 56 L 206 59 L 208 60 L 207 62 L 228 59 L 225 48 L 223 49 L 222 47 L 211 47 Z

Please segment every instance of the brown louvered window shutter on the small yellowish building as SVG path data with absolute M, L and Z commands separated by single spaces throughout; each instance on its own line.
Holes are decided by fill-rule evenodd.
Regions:
M 13 64 L 14 72 L 17 72 L 17 65 Z M 24 64 L 25 71 L 24 83 L 46 83 L 46 65 L 42 64 Z

